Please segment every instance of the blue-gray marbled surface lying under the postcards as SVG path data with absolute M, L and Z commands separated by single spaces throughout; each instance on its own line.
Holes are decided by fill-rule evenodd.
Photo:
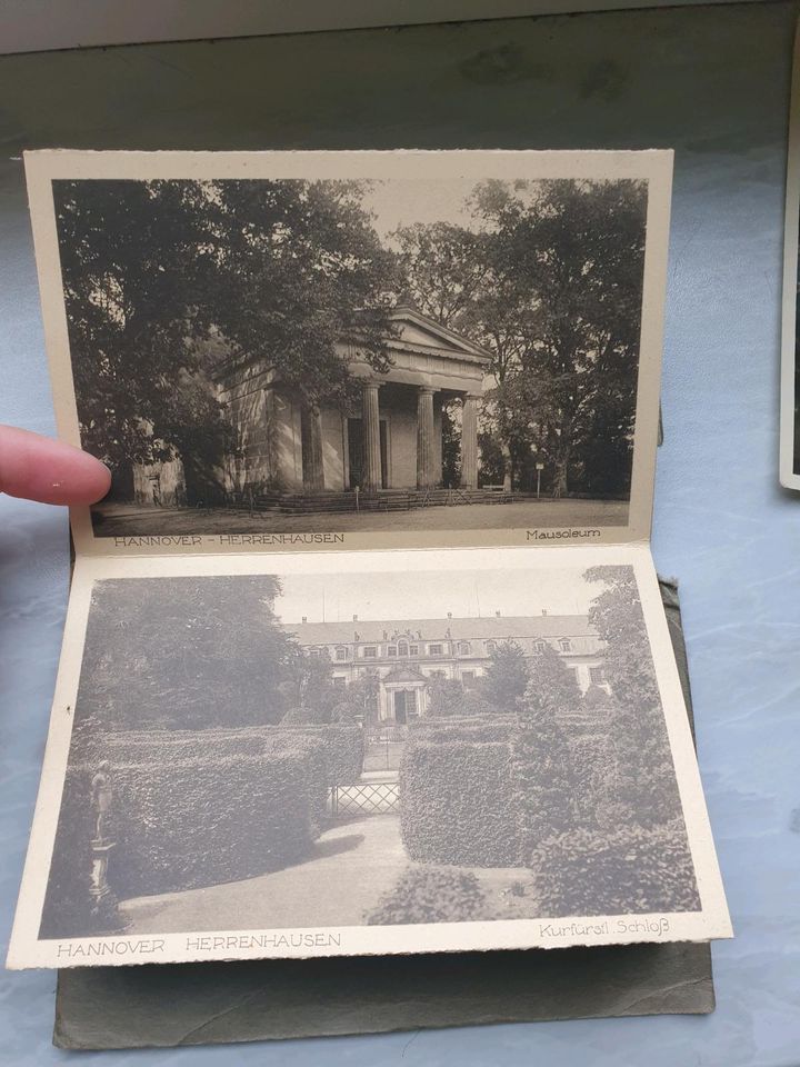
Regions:
M 708 1018 L 532 1024 L 92 1063 L 800 1063 L 800 499 L 778 488 L 793 4 L 54 53 L 0 62 L 0 421 L 53 431 L 21 166 L 90 148 L 674 147 L 654 555 L 681 580 L 698 746 L 737 930 Z M 0 501 L 0 930 L 44 744 L 66 516 Z M 0 1056 L 49 1045 L 54 976 L 0 977 Z

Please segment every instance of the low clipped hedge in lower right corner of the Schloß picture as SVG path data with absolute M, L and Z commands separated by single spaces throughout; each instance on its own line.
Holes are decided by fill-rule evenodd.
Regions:
M 540 909 L 568 915 L 699 911 L 694 867 L 680 820 L 616 832 L 577 830 L 542 841 L 530 858 Z

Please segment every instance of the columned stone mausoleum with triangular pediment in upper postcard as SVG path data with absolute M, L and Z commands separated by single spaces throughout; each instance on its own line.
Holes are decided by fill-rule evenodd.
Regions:
M 353 340 L 339 342 L 362 382 L 361 405 L 343 412 L 303 406 L 260 357 L 220 365 L 219 398 L 239 435 L 229 489 L 280 486 L 317 492 L 428 489 L 442 481 L 442 405 L 462 402 L 461 485 L 478 485 L 478 401 L 490 356 L 421 312 L 396 308 L 387 339 L 391 367 L 376 375 Z

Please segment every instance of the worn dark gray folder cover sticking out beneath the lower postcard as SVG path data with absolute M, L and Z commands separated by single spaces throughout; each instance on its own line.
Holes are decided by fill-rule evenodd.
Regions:
M 691 716 L 678 591 L 661 596 Z M 361 959 L 257 960 L 59 973 L 61 1048 L 142 1048 L 714 1007 L 708 945 Z

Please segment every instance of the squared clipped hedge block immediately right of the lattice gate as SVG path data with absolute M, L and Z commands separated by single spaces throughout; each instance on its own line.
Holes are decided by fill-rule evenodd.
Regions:
M 508 867 L 517 862 L 509 745 L 409 737 L 400 764 L 400 829 L 419 862 Z

